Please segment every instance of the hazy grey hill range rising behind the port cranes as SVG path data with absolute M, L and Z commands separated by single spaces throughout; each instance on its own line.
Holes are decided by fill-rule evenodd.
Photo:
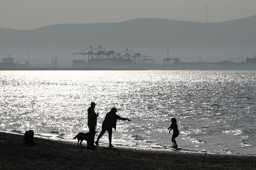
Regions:
M 71 64 L 72 55 L 92 45 L 107 51 L 122 52 L 126 48 L 162 63 L 169 58 L 181 62 L 231 60 L 241 61 L 256 54 L 256 16 L 219 22 L 198 23 L 140 18 L 119 23 L 57 24 L 33 30 L 0 28 L 0 58 L 11 54 L 16 61 L 49 63 L 52 54 L 60 64 Z M 65 58 L 64 58 L 65 56 Z

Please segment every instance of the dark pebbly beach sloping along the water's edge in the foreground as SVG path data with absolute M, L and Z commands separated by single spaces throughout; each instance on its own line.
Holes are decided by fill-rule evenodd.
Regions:
M 256 169 L 255 155 L 188 153 L 106 145 L 92 149 L 24 135 L 0 133 L 0 169 Z M 86 142 L 83 142 L 86 146 Z M 101 144 L 101 143 L 99 143 Z

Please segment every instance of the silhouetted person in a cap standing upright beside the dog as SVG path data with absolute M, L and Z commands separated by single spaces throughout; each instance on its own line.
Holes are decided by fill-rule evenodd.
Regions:
M 96 131 L 96 125 L 97 125 L 97 117 L 99 116 L 99 113 L 95 113 L 95 103 L 91 102 L 91 107 L 87 109 L 88 111 L 88 128 L 89 132 L 91 133 L 91 142 L 89 142 L 89 146 L 95 146 L 94 145 L 94 137 L 95 137 L 95 131 Z

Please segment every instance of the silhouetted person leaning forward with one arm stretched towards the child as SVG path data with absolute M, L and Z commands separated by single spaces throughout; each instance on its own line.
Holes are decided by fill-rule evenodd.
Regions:
M 117 112 L 117 108 L 112 108 L 110 110 L 110 112 L 108 112 L 105 116 L 105 119 L 104 121 L 102 122 L 102 129 L 101 129 L 101 133 L 99 134 L 98 138 L 97 138 L 97 141 L 95 142 L 95 144 L 97 146 L 99 146 L 98 144 L 98 141 L 100 140 L 100 138 L 102 137 L 102 135 L 108 131 L 108 139 L 109 139 L 109 145 L 108 147 L 114 147 L 112 144 L 111 144 L 111 140 L 112 140 L 112 128 L 116 129 L 116 126 L 117 126 L 117 119 L 119 120 L 122 120 L 122 121 L 125 121 L 127 120 L 128 122 L 130 122 L 131 120 L 130 119 L 127 119 L 127 118 L 123 118 L 123 117 L 120 117 L 116 114 Z

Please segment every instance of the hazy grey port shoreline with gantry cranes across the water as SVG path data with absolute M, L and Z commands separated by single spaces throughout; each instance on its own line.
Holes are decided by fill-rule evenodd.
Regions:
M 256 70 L 256 55 L 253 58 L 246 58 L 246 61 L 232 62 L 201 62 L 199 55 L 198 62 L 181 62 L 179 58 L 169 58 L 169 50 L 167 50 L 167 58 L 163 59 L 163 64 L 155 65 L 154 59 L 149 59 L 147 55 L 134 53 L 128 48 L 123 52 L 107 51 L 102 46 L 93 48 L 89 46 L 79 53 L 73 55 L 84 55 L 84 60 L 73 60 L 72 66 L 61 67 L 57 63 L 57 55 L 54 54 L 52 62 L 44 65 L 30 65 L 28 61 L 25 63 L 14 63 L 14 58 L 3 58 L 0 63 L 0 70 L 33 70 L 40 68 L 41 70 Z M 231 55 L 232 58 L 232 55 Z

